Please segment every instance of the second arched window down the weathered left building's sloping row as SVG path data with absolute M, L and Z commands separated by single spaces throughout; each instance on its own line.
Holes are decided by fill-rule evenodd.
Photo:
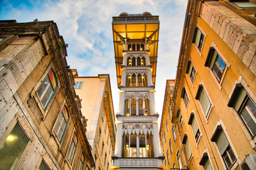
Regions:
M 67 127 L 68 120 L 69 120 L 68 109 L 64 105 L 62 110 L 60 111 L 60 114 L 58 115 L 57 120 L 55 121 L 55 127 L 53 130 L 59 142 L 61 142 L 61 140 L 63 139 L 63 135 Z

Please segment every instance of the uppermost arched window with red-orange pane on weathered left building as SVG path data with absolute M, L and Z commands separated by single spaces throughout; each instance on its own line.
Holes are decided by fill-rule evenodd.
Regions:
M 38 97 L 43 110 L 46 111 L 50 99 L 53 97 L 55 90 L 57 89 L 57 79 L 53 69 L 50 69 L 42 83 L 36 90 L 36 96 Z

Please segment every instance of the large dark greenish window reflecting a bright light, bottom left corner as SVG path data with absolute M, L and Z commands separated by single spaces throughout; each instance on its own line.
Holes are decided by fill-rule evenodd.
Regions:
M 6 137 L 4 144 L 0 147 L 0 165 L 1 169 L 14 169 L 18 160 L 21 158 L 26 146 L 28 145 L 28 137 L 16 123 L 14 129 Z

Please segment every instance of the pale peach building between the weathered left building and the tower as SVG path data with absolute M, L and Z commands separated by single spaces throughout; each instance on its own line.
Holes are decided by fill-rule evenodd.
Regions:
M 87 119 L 87 139 L 92 146 L 95 170 L 110 170 L 116 127 L 110 87 L 110 75 L 78 77 L 76 70 L 75 92 L 81 99 L 82 115 Z

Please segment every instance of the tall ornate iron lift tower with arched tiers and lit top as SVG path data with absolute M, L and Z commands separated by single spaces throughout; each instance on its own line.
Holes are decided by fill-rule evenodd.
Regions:
M 161 169 L 154 101 L 159 18 L 121 13 L 112 28 L 120 96 L 112 169 Z

